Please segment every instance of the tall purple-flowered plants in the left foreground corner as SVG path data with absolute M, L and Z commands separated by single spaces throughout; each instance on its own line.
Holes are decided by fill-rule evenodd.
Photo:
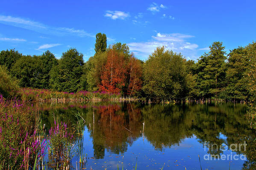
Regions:
M 44 158 L 45 140 L 37 135 L 36 112 L 0 94 L 0 169 L 29 169 Z

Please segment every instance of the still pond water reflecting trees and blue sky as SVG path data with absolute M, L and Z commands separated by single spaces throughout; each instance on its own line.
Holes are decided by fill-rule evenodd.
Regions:
M 255 132 L 245 116 L 246 105 L 141 103 L 39 104 L 47 129 L 53 113 L 75 124 L 85 121 L 83 136 L 74 143 L 86 155 L 84 168 L 94 170 L 242 170 L 253 169 Z M 240 147 L 239 147 L 240 144 Z M 200 156 L 200 157 L 199 157 Z M 215 157 L 213 157 L 215 156 Z M 79 169 L 79 163 L 78 163 Z

